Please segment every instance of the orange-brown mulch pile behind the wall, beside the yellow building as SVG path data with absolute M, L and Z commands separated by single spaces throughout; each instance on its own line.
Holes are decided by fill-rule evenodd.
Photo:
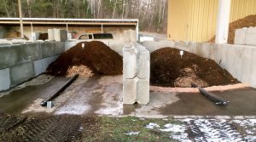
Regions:
M 242 18 L 240 20 L 235 20 L 232 23 L 230 23 L 228 43 L 234 44 L 236 29 L 241 29 L 243 27 L 250 27 L 250 26 L 252 27 L 256 26 L 256 14 L 249 15 L 245 18 Z M 215 41 L 215 36 L 212 37 L 212 39 L 210 39 L 208 42 L 214 43 L 214 41 Z

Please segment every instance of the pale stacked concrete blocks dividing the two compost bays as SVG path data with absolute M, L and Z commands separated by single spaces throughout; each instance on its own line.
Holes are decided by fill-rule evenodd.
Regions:
M 150 54 L 138 43 L 123 48 L 123 103 L 141 105 L 149 103 Z

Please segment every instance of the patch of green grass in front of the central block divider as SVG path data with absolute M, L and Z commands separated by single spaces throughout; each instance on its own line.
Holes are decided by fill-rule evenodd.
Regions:
M 93 138 L 86 138 L 84 141 L 175 141 L 170 138 L 170 133 L 161 132 L 159 128 L 145 128 L 149 122 L 157 123 L 160 128 L 164 128 L 166 123 L 181 124 L 182 122 L 173 119 L 140 119 L 134 116 L 125 117 L 101 117 L 100 132 Z M 136 135 L 125 133 L 139 132 Z

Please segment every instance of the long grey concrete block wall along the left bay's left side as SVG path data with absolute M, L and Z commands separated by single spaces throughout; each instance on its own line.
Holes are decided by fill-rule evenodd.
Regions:
M 64 46 L 64 42 L 0 44 L 0 91 L 43 73 Z

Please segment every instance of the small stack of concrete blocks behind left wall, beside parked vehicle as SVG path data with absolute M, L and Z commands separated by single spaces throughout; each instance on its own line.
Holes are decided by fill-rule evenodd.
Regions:
M 65 42 L 67 41 L 67 31 L 62 29 L 48 29 L 49 41 Z

